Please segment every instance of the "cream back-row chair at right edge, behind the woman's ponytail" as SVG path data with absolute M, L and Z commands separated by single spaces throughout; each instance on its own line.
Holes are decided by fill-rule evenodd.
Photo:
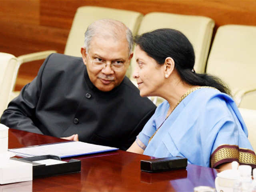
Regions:
M 256 26 L 220 26 L 207 62 L 206 72 L 228 84 L 236 104 L 256 109 Z

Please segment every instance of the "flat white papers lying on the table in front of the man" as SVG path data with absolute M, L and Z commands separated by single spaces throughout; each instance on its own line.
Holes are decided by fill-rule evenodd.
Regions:
M 9 149 L 9 151 L 16 153 L 17 156 L 24 157 L 56 155 L 61 158 L 64 158 L 83 154 L 93 154 L 98 152 L 112 151 L 117 149 L 118 148 L 89 144 L 80 141 L 68 141 L 37 146 L 29 146 L 24 148 L 14 148 Z

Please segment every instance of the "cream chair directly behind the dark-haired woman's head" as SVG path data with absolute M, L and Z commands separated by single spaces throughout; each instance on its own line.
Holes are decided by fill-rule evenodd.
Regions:
M 194 47 L 196 61 L 195 71 L 205 72 L 205 64 L 208 57 L 214 20 L 204 16 L 190 16 L 172 13 L 152 12 L 146 14 L 142 19 L 138 34 L 143 34 L 158 28 L 173 28 L 181 31 L 190 40 Z M 136 53 L 135 53 L 136 54 Z M 136 62 L 133 57 L 132 69 Z M 132 70 L 133 71 L 133 70 Z M 152 98 L 154 100 L 155 98 Z M 158 105 L 163 99 L 156 101 Z

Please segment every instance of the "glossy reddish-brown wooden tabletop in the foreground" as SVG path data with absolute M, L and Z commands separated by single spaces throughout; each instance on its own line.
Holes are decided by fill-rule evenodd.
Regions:
M 8 148 L 65 141 L 46 135 L 9 129 Z M 35 178 L 32 191 L 193 191 L 196 186 L 214 186 L 216 169 L 188 164 L 186 170 L 159 173 L 140 171 L 140 160 L 150 156 L 122 150 L 74 157 L 81 160 L 81 172 Z M 62 159 L 68 160 L 68 159 Z M 19 186 L 26 182 L 8 184 Z M 29 182 L 28 182 L 29 183 Z M 0 186 L 3 187 L 3 186 Z

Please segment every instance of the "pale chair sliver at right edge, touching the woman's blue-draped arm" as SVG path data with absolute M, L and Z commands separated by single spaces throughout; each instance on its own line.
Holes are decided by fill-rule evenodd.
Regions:
M 256 150 L 256 110 L 239 108 L 239 111 L 248 129 L 248 139 Z

